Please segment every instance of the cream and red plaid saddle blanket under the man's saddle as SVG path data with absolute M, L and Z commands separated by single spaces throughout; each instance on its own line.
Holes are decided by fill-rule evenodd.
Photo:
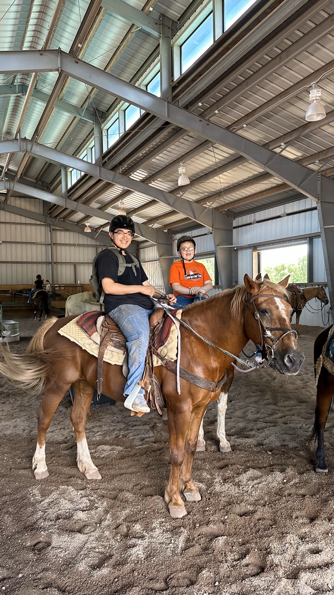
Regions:
M 157 310 L 153 312 L 152 317 L 156 315 L 156 312 Z M 173 313 L 180 319 L 182 310 L 174 310 Z M 101 314 L 99 311 L 86 312 L 68 322 L 64 327 L 59 328 L 58 333 L 67 337 L 67 339 L 70 339 L 97 358 L 104 318 L 105 314 Z M 109 364 L 123 365 L 125 356 L 127 355 L 126 339 L 118 326 L 115 323 L 114 325 L 115 334 L 112 344 L 106 348 L 103 361 Z M 172 319 L 165 315 L 162 322 L 157 325 L 153 336 L 153 345 L 162 358 L 168 358 L 172 361 L 177 359 L 177 339 L 177 327 Z M 161 363 L 161 360 L 153 355 L 153 365 L 158 366 Z

